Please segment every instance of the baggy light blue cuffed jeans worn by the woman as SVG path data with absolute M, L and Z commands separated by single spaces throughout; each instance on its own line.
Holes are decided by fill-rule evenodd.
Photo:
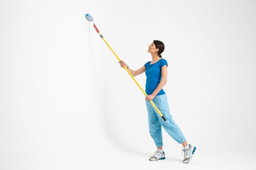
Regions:
M 164 119 L 159 115 L 157 110 L 155 110 L 153 105 L 146 100 L 149 132 L 150 136 L 155 142 L 155 146 L 163 146 L 162 126 L 164 130 L 166 130 L 166 132 L 179 144 L 186 141 L 186 138 L 184 137 L 182 131 L 180 130 L 179 126 L 175 124 L 175 121 L 173 121 L 173 117 L 170 114 L 166 94 L 155 96 L 152 102 L 166 119 L 166 121 L 164 121 Z

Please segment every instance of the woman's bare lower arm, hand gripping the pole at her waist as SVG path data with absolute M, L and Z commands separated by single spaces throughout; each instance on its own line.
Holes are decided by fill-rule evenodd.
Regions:
M 154 97 L 159 93 L 159 91 L 164 87 L 164 85 L 167 82 L 167 65 L 162 66 L 161 68 L 161 74 L 162 74 L 162 79 L 159 82 L 157 88 L 151 95 L 146 96 L 146 100 L 150 102 L 150 100 L 154 99 Z

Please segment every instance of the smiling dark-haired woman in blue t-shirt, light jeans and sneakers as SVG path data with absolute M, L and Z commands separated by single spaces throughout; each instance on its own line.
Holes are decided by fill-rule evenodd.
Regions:
M 184 152 L 183 163 L 188 163 L 193 153 L 195 152 L 195 146 L 187 143 L 186 138 L 182 134 L 180 128 L 175 124 L 169 111 L 166 93 L 163 90 L 164 85 L 167 82 L 167 61 L 162 58 L 162 52 L 164 51 L 164 43 L 158 40 L 154 40 L 148 46 L 148 53 L 152 56 L 152 61 L 147 62 L 141 68 L 136 71 L 129 68 L 129 66 L 120 61 L 120 66 L 128 68 L 132 76 L 146 73 L 146 108 L 148 110 L 148 125 L 150 136 L 155 142 L 157 150 L 154 155 L 150 157 L 150 161 L 157 161 L 159 159 L 165 159 L 165 153 L 163 151 L 162 142 L 162 127 L 166 132 L 179 144 L 182 144 Z M 158 110 L 166 118 L 166 121 L 162 119 L 159 113 L 152 106 L 150 101 L 155 104 Z

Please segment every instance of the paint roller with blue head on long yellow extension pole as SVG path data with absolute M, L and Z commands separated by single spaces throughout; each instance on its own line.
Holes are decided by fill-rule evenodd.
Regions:
M 93 21 L 92 16 L 89 13 L 85 14 L 85 18 L 88 19 L 89 21 Z M 117 57 L 117 60 L 120 62 L 120 58 L 117 56 L 117 54 L 115 53 L 115 51 L 111 48 L 111 46 L 108 44 L 108 42 L 105 40 L 105 38 L 101 35 L 101 33 L 99 32 L 98 28 L 96 27 L 96 25 L 93 22 L 93 26 L 95 28 L 95 30 L 97 31 L 97 33 L 100 35 L 100 37 L 102 38 L 102 40 L 107 44 L 108 48 L 112 51 L 112 53 Z M 141 91 L 144 93 L 145 96 L 147 96 L 146 92 L 144 91 L 143 88 L 141 88 L 141 86 L 139 85 L 139 83 L 137 82 L 137 80 L 133 77 L 133 75 L 130 73 L 130 71 L 126 68 L 126 66 L 124 66 L 125 70 L 127 71 L 127 73 L 130 75 L 130 77 L 132 77 L 132 79 L 134 80 L 134 82 L 137 84 L 137 86 L 139 86 L 139 88 L 141 89 Z M 159 109 L 157 108 L 157 106 L 155 106 L 155 104 L 152 102 L 152 100 L 150 100 L 150 103 L 152 104 L 152 106 L 155 108 L 155 110 L 157 110 L 157 113 L 159 113 L 159 115 L 164 119 L 164 121 L 166 121 L 165 117 L 162 115 L 162 113 L 159 111 Z

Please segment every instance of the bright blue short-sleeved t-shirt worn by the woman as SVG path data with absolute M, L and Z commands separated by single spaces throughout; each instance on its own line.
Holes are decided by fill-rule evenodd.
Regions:
M 162 79 L 162 74 L 161 74 L 161 68 L 162 66 L 167 65 L 167 61 L 163 58 L 158 60 L 154 64 L 150 64 L 150 62 L 147 62 L 144 66 L 146 67 L 146 94 L 151 95 L 155 89 L 157 88 L 159 82 Z M 157 95 L 163 95 L 165 94 L 164 90 L 161 89 Z

